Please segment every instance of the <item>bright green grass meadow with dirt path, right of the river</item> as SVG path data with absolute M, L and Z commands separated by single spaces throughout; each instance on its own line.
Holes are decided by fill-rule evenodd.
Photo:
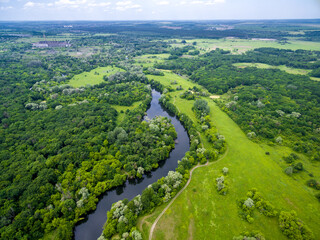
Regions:
M 170 85 L 170 82 L 176 80 L 184 89 L 194 85 L 168 72 L 164 77 L 152 78 L 165 85 Z M 187 113 L 195 121 L 191 111 L 193 101 L 180 99 L 178 95 L 181 92 L 170 93 L 173 96 L 172 101 L 180 111 Z M 208 101 L 211 119 L 220 134 L 226 137 L 228 154 L 220 162 L 194 171 L 190 185 L 159 220 L 154 239 L 224 240 L 232 239 L 244 230 L 259 230 L 266 239 L 287 239 L 280 232 L 276 218 L 267 218 L 256 211 L 253 224 L 240 219 L 236 201 L 245 198 L 246 192 L 253 187 L 278 210 L 295 210 L 298 217 L 314 232 L 316 239 L 319 239 L 320 204 L 314 197 L 313 190 L 305 185 L 305 181 L 310 177 L 306 172 L 295 177 L 289 177 L 283 172 L 285 164 L 281 157 L 291 150 L 250 141 L 238 125 L 212 100 L 208 98 Z M 205 145 L 208 144 L 205 142 Z M 266 151 L 270 152 L 269 156 L 265 154 Z M 304 157 L 303 161 L 307 170 L 313 172 L 315 178 L 319 178 L 319 164 L 310 163 Z M 219 195 L 215 188 L 215 178 L 221 175 L 223 167 L 228 167 L 230 171 L 230 190 L 226 196 Z M 144 236 L 148 236 L 152 222 L 160 212 L 156 209 L 154 215 L 143 221 L 141 230 Z

